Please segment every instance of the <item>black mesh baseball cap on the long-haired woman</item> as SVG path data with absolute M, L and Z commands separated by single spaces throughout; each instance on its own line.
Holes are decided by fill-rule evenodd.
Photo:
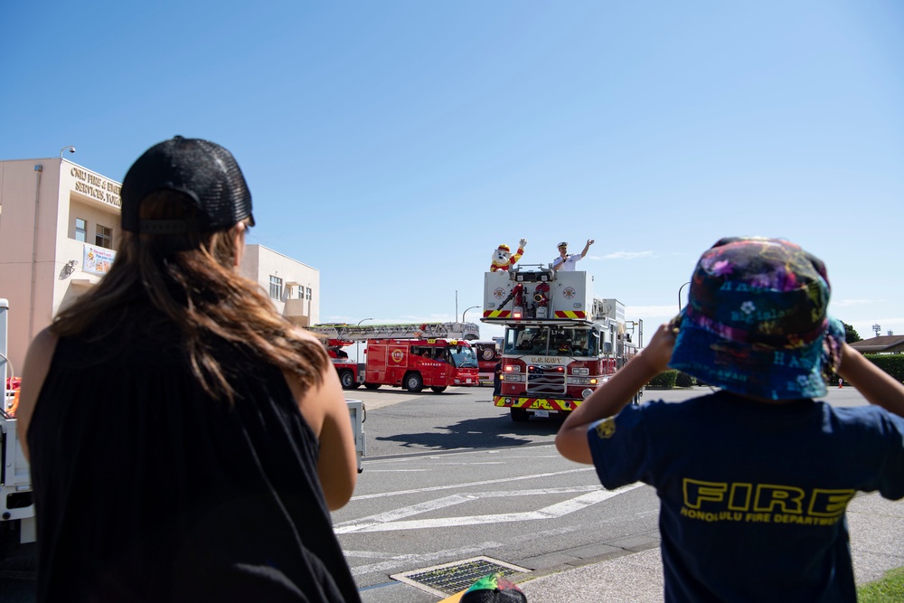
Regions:
M 177 220 L 140 220 L 138 208 L 150 193 L 184 193 L 197 215 Z M 174 137 L 145 151 L 128 168 L 120 190 L 122 229 L 143 234 L 225 231 L 251 215 L 251 192 L 235 157 L 216 143 Z

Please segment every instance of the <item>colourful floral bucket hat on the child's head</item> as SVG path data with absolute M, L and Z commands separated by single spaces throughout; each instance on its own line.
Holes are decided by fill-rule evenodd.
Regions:
M 822 260 L 796 244 L 722 239 L 694 269 L 669 366 L 759 398 L 824 396 L 844 343 L 830 293 Z

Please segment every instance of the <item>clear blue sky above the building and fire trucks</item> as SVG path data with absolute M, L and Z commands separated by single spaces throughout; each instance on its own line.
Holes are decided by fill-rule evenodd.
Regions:
M 904 334 L 898 0 L 6 2 L 0 82 L 0 159 L 73 145 L 121 180 L 175 134 L 229 148 L 250 242 L 320 270 L 323 321 L 451 320 L 500 243 L 593 238 L 596 297 L 652 334 L 750 234 Z

